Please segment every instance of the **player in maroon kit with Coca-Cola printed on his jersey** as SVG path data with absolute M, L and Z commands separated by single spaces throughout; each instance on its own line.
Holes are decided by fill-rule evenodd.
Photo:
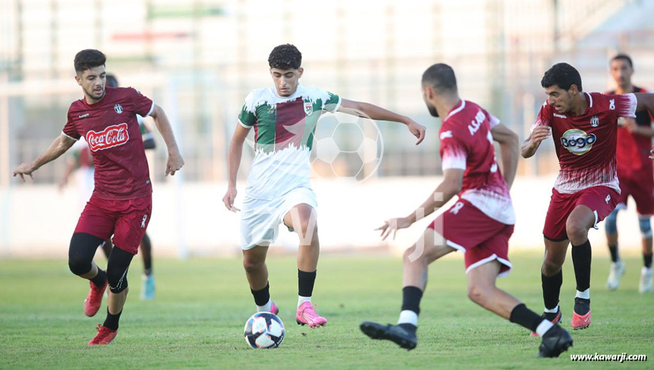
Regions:
M 127 269 L 138 251 L 152 211 L 145 150 L 136 115 L 154 118 L 167 145 L 166 175 L 174 175 L 184 164 L 170 122 L 161 107 L 131 87 L 106 87 L 106 57 L 87 49 L 75 56 L 75 80 L 83 99 L 68 109 L 62 134 L 36 160 L 23 163 L 13 172 L 24 181 L 47 162 L 55 160 L 84 136 L 95 164 L 95 190 L 79 217 L 70 240 L 68 265 L 74 274 L 90 280 L 84 313 L 94 316 L 109 286 L 107 317 L 98 325 L 89 346 L 108 344 L 116 336 L 118 320 L 127 296 Z M 93 262 L 97 246 L 113 234 L 107 270 Z

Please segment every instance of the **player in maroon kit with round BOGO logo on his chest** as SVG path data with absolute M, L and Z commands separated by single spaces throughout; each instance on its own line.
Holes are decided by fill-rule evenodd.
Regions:
M 524 158 L 536 153 L 552 136 L 559 159 L 557 176 L 543 227 L 545 258 L 541 268 L 543 317 L 562 318 L 559 292 L 561 267 L 572 244 L 577 292 L 572 328 L 591 324 L 591 244 L 588 230 L 615 208 L 620 196 L 616 174 L 616 135 L 619 117 L 636 117 L 633 94 L 604 95 L 582 90 L 581 76 L 567 63 L 545 72 L 541 86 L 548 98 L 522 146 Z

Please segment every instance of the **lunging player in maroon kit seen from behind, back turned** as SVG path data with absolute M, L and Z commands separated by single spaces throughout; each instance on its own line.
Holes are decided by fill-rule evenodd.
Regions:
M 459 196 L 455 205 L 436 217 L 418 242 L 404 252 L 404 287 L 398 325 L 361 323 L 363 333 L 411 350 L 420 298 L 427 285 L 428 265 L 453 251 L 465 253 L 468 297 L 478 305 L 542 337 L 539 356 L 557 357 L 572 337 L 557 323 L 543 319 L 517 298 L 496 287 L 509 273 L 509 238 L 516 217 L 509 195 L 518 164 L 518 136 L 472 101 L 462 100 L 452 67 L 436 64 L 423 74 L 423 96 L 434 117 L 444 117 L 439 131 L 444 178 L 433 194 L 407 217 L 390 219 L 379 228 L 382 239 L 432 214 Z M 502 170 L 493 141 L 500 144 Z

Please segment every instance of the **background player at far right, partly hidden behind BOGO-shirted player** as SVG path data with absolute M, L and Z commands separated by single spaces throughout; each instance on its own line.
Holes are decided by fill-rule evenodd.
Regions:
M 632 85 L 631 76 L 634 73 L 634 66 L 628 55 L 614 56 L 610 62 L 610 72 L 616 83 L 616 90 L 607 92 L 607 94 L 647 92 L 642 87 Z M 604 220 L 612 261 L 610 274 L 606 281 L 606 287 L 609 290 L 617 289 L 620 278 L 626 270 L 618 253 L 616 218 L 619 210 L 627 208 L 627 198 L 631 196 L 636 202 L 638 212 L 644 262 L 638 290 L 641 293 L 652 291 L 652 226 L 650 218 L 654 215 L 654 165 L 649 159 L 649 151 L 653 136 L 652 117 L 645 110 L 637 112 L 635 119 L 626 118 L 618 121 L 616 157 L 622 192 L 615 210 Z

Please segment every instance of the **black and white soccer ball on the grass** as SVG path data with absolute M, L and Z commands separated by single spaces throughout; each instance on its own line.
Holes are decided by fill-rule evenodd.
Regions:
M 276 314 L 256 312 L 245 322 L 245 342 L 254 349 L 277 348 L 284 342 L 284 323 Z

